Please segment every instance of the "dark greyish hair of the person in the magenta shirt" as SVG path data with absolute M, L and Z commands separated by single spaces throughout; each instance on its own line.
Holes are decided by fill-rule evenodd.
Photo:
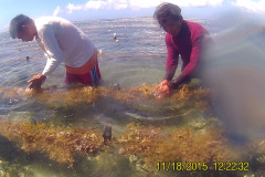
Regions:
M 172 18 L 179 20 L 181 15 L 181 9 L 173 3 L 163 2 L 159 4 L 153 13 L 153 18 L 159 22 L 161 19 Z

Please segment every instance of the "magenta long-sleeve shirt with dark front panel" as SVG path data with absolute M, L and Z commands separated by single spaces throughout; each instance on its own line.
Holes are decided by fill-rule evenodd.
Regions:
M 171 82 L 171 88 L 178 87 L 194 73 L 202 55 L 203 39 L 208 34 L 208 30 L 201 24 L 186 20 L 182 22 L 178 35 L 173 37 L 170 33 L 166 34 L 168 58 L 166 62 L 165 80 L 172 80 L 178 67 L 179 55 L 181 55 L 182 60 L 182 72 Z

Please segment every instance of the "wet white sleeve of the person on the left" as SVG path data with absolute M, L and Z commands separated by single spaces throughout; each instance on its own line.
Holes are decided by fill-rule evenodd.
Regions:
M 44 52 L 47 55 L 46 65 L 42 74 L 49 75 L 62 63 L 63 54 L 51 24 L 45 24 L 39 35 L 41 35 Z

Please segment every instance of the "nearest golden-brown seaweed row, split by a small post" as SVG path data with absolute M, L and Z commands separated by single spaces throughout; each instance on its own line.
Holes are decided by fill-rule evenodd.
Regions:
M 229 146 L 222 128 L 213 124 L 199 131 L 183 127 L 166 131 L 132 122 L 126 125 L 118 137 L 104 143 L 98 129 L 62 128 L 44 123 L 1 119 L 0 134 L 15 142 L 26 153 L 44 153 L 50 159 L 66 164 L 68 168 L 73 167 L 77 154 L 98 156 L 105 147 L 108 149 L 104 150 L 107 154 L 124 155 L 132 164 L 137 162 L 138 166 L 136 163 L 135 168 L 140 167 L 147 174 L 155 173 L 153 166 L 158 162 L 210 165 L 214 162 L 242 160 L 242 155 Z M 257 147 L 264 155 L 264 143 L 259 143 Z M 116 149 L 119 149 L 118 154 Z M 259 162 L 258 170 L 261 169 L 263 165 Z

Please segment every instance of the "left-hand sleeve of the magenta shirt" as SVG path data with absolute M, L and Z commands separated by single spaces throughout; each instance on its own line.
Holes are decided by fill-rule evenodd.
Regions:
M 168 33 L 166 34 L 165 42 L 168 51 L 165 80 L 171 81 L 178 67 L 179 52 L 173 48 L 171 37 Z

